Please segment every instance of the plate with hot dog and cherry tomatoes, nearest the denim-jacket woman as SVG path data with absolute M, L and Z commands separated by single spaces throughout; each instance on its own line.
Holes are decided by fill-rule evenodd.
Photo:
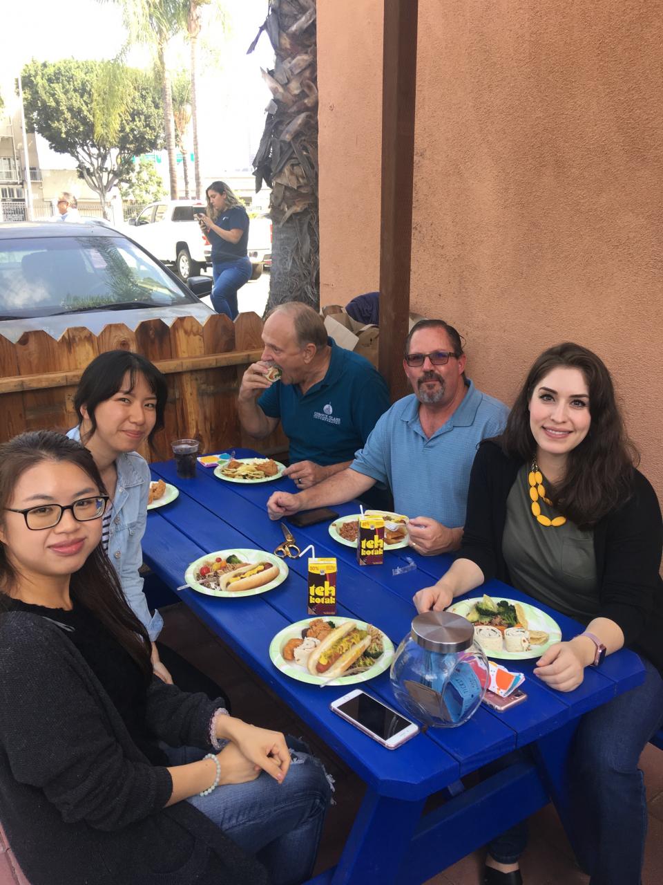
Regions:
M 256 596 L 278 587 L 287 576 L 286 563 L 273 553 L 238 547 L 196 559 L 184 580 L 206 596 Z

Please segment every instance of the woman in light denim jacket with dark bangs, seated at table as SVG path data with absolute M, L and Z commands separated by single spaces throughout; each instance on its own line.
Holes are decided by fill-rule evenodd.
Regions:
M 93 359 L 80 377 L 73 398 L 79 424 L 67 435 L 92 452 L 109 494 L 103 547 L 127 603 L 148 632 L 154 672 L 166 682 L 174 678 L 180 689 L 218 697 L 223 693 L 213 681 L 168 646 L 157 645 L 164 620 L 158 611 L 149 611 L 139 573 L 151 476 L 137 449 L 164 427 L 167 398 L 164 375 L 149 359 L 128 350 L 109 350 Z

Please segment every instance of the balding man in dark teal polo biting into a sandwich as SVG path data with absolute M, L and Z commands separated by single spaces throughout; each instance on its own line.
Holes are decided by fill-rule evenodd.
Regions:
M 241 426 L 262 439 L 281 426 L 290 441 L 290 476 L 301 489 L 345 469 L 389 408 L 385 381 L 370 362 L 327 337 L 307 304 L 275 308 L 263 327 L 263 355 L 240 386 Z M 272 381 L 270 370 L 280 377 Z

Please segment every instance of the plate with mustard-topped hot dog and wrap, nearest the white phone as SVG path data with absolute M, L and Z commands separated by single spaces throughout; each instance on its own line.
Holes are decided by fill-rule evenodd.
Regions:
M 305 618 L 271 641 L 270 658 L 281 673 L 311 685 L 353 685 L 384 673 L 393 658 L 382 630 L 353 618 Z

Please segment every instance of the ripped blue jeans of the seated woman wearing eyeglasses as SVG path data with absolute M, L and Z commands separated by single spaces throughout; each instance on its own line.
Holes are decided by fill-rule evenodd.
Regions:
M 267 868 L 273 885 L 300 885 L 310 878 L 322 835 L 331 787 L 306 744 L 287 739 L 292 762 L 278 783 L 261 772 L 255 781 L 217 787 L 209 796 L 193 796 L 194 805 L 233 842 Z M 165 747 L 171 765 L 185 765 L 205 755 L 194 747 Z

